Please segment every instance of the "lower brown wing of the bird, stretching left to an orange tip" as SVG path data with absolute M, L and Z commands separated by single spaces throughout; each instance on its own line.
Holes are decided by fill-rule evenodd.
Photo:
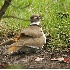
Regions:
M 18 42 L 10 45 L 8 50 L 5 52 L 5 54 L 10 54 L 12 51 L 18 51 L 21 48 L 24 49 L 25 47 L 34 47 L 34 48 L 40 48 L 45 44 L 43 36 L 40 38 L 24 38 L 20 39 Z M 25 49 L 24 49 L 25 50 Z

